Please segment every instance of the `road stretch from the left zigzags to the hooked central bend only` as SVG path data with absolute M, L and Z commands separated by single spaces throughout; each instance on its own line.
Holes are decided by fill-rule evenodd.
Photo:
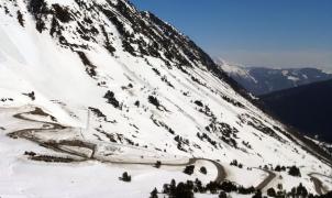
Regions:
M 33 112 L 33 111 L 31 111 L 31 112 Z M 92 158 L 96 160 L 93 157 L 93 154 L 96 152 L 96 146 L 91 146 L 89 143 L 81 142 L 81 145 L 80 145 L 80 146 L 84 146 L 84 147 L 87 147 L 87 148 L 91 150 L 92 154 L 91 154 L 91 156 L 88 157 L 85 154 L 81 154 L 81 153 L 78 153 L 78 152 L 63 150 L 63 148 L 60 148 L 56 144 L 49 145 L 46 142 L 43 142 L 42 140 L 33 138 L 32 135 L 29 135 L 29 134 L 31 134 L 33 132 L 42 132 L 42 131 L 67 129 L 66 127 L 63 127 L 63 125 L 57 124 L 57 123 L 52 123 L 52 122 L 46 122 L 46 121 L 36 121 L 36 120 L 32 120 L 32 119 L 23 117 L 23 114 L 31 113 L 31 112 L 18 113 L 18 114 L 14 114 L 13 117 L 16 118 L 16 119 L 20 119 L 20 120 L 24 120 L 24 121 L 47 124 L 48 128 L 18 130 L 18 131 L 9 133 L 8 134 L 9 136 L 11 136 L 11 138 L 22 138 L 22 139 L 32 141 L 32 142 L 34 142 L 36 144 L 40 144 L 40 145 L 46 146 L 48 148 L 52 148 L 52 150 L 54 150 L 56 152 L 62 152 L 62 153 L 67 153 L 67 154 L 70 154 L 70 155 L 76 155 L 76 156 L 79 156 L 79 157 L 84 157 L 85 161 L 92 160 Z M 104 161 L 104 160 L 103 161 L 97 160 L 97 161 L 100 161 L 100 162 L 103 162 L 103 163 L 112 163 L 112 164 L 155 165 L 155 163 L 144 163 L 144 162 L 142 162 L 142 163 L 133 163 L 133 162 L 117 162 L 117 161 Z M 197 161 L 208 161 L 208 162 L 212 163 L 217 167 L 218 174 L 217 174 L 217 177 L 215 177 L 214 182 L 222 183 L 225 179 L 226 172 L 225 172 L 224 167 L 221 164 L 219 164 L 218 162 L 212 161 L 212 160 L 208 160 L 208 158 L 189 158 L 189 161 L 187 163 L 179 163 L 179 164 L 165 163 L 165 164 L 162 164 L 162 165 L 164 165 L 164 166 L 188 166 L 188 165 L 195 164 Z M 79 161 L 79 162 L 81 162 L 81 161 Z

